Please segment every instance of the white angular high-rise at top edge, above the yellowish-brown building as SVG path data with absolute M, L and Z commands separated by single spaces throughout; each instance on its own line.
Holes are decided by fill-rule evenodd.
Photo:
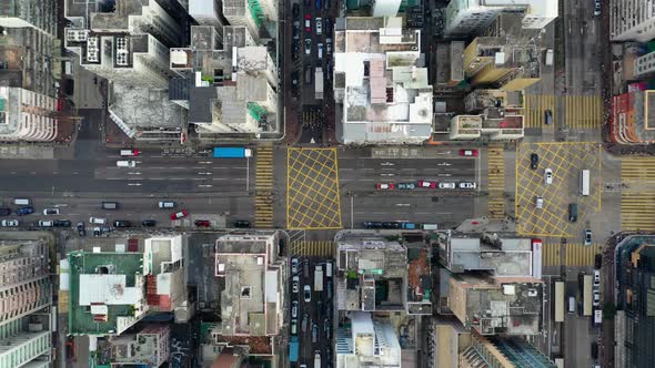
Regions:
M 557 18 L 557 0 L 452 0 L 445 10 L 446 37 L 480 34 L 502 12 L 523 12 L 522 27 L 543 29 Z

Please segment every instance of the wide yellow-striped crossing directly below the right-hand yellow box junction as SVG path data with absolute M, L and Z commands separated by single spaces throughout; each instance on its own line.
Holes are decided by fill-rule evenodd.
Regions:
M 603 252 L 602 244 L 584 245 L 582 243 L 567 244 L 544 244 L 543 248 L 543 266 L 576 266 L 587 267 L 594 265 L 596 254 Z

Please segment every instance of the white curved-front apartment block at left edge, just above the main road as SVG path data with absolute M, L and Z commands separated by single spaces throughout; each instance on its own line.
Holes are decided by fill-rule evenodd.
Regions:
M 58 113 L 57 99 L 0 86 L 0 141 L 51 142 L 57 137 Z

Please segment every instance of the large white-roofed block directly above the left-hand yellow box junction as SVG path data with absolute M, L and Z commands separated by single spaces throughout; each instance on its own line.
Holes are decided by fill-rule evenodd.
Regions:
M 340 24 L 340 22 L 337 22 Z M 334 31 L 334 98 L 343 143 L 421 143 L 432 133 L 432 85 L 421 32 L 401 18 L 345 18 Z

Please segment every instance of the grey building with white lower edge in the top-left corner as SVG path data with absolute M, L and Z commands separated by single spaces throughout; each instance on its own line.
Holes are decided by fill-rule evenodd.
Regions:
M 57 37 L 57 0 L 0 1 L 0 27 L 33 27 Z

